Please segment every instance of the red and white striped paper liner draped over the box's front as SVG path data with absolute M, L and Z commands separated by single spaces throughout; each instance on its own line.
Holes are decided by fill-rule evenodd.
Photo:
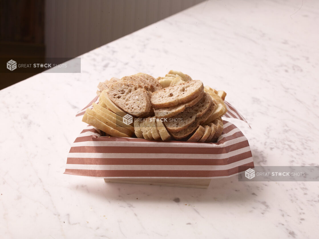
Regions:
M 72 144 L 64 173 L 101 178 L 218 178 L 238 174 L 240 166 L 254 167 L 248 140 L 224 120 L 217 143 L 101 137 L 100 130 L 88 126 Z

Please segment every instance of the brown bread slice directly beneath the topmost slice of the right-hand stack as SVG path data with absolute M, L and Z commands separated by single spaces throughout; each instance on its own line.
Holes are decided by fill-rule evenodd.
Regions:
M 199 94 L 195 99 L 192 99 L 189 102 L 182 103 L 180 105 L 154 109 L 154 114 L 157 118 L 171 118 L 183 112 L 186 108 L 197 104 L 197 102 L 203 97 L 203 94 L 204 94 L 204 91 L 201 92 L 201 94 Z

